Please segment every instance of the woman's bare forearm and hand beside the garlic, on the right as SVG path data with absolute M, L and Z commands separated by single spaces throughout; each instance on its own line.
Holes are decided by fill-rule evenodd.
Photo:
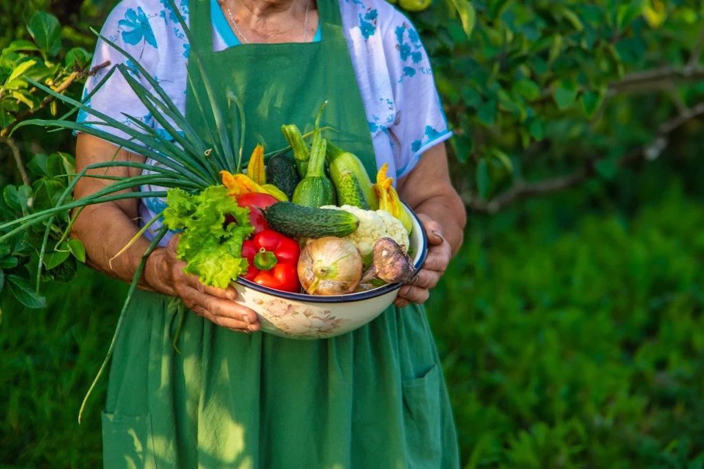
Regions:
M 435 287 L 462 245 L 467 214 L 452 187 L 444 144 L 432 146 L 398 181 L 398 195 L 418 214 L 430 244 L 422 270 L 401 288 L 394 302 L 403 308 L 408 301 L 424 303 L 428 299 L 429 289 Z

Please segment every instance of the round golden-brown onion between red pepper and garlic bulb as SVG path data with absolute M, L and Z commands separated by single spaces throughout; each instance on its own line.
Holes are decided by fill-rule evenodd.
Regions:
M 312 295 L 351 293 L 362 278 L 362 270 L 362 255 L 346 239 L 313 239 L 298 258 L 298 280 Z

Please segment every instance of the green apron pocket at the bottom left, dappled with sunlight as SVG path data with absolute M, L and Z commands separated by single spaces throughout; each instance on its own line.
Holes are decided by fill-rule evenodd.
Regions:
M 156 469 L 151 418 L 103 411 L 103 469 Z

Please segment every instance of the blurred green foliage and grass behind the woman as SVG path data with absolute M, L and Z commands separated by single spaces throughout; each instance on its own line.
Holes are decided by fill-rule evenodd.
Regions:
M 49 65 L 65 78 L 113 3 L 0 0 L 0 50 L 51 11 L 64 26 Z M 470 211 L 428 306 L 465 468 L 704 465 L 702 13 L 684 0 L 453 0 L 410 15 Z M 0 112 L 52 111 L 8 96 Z M 70 135 L 14 140 L 33 195 L 61 180 L 37 154 L 73 151 Z M 0 143 L 0 189 L 23 184 L 15 166 Z M 0 220 L 31 210 L 10 208 Z M 33 277 L 32 252 L 0 249 L 0 269 Z M 0 294 L 0 468 L 101 462 L 104 380 L 75 418 L 126 286 L 67 259 L 77 279 L 46 284 L 46 308 Z

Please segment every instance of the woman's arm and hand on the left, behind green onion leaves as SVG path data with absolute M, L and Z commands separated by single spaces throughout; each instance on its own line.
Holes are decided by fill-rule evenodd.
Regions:
M 144 163 L 144 156 L 132 154 L 104 140 L 85 134 L 78 136 L 76 146 L 76 170 L 88 165 L 110 161 L 135 161 Z M 106 170 L 93 170 L 89 174 L 107 174 L 117 177 L 131 177 L 141 173 L 137 168 L 113 167 Z M 89 196 L 112 184 L 111 180 L 83 177 L 75 187 L 74 196 L 80 199 Z M 130 249 L 113 258 L 139 231 L 138 199 L 105 202 L 86 206 L 80 213 L 71 230 L 71 236 L 80 239 L 86 248 L 86 263 L 92 268 L 111 277 L 131 282 L 137 266 L 149 247 L 148 239 L 139 237 Z M 143 289 L 180 296 L 184 304 L 212 320 L 232 330 L 251 332 L 258 330 L 256 314 L 249 308 L 232 302 L 237 291 L 228 287 L 225 290 L 206 287 L 198 277 L 185 275 L 184 263 L 176 259 L 178 237 L 173 237 L 168 246 L 155 249 L 147 258 L 142 282 Z

